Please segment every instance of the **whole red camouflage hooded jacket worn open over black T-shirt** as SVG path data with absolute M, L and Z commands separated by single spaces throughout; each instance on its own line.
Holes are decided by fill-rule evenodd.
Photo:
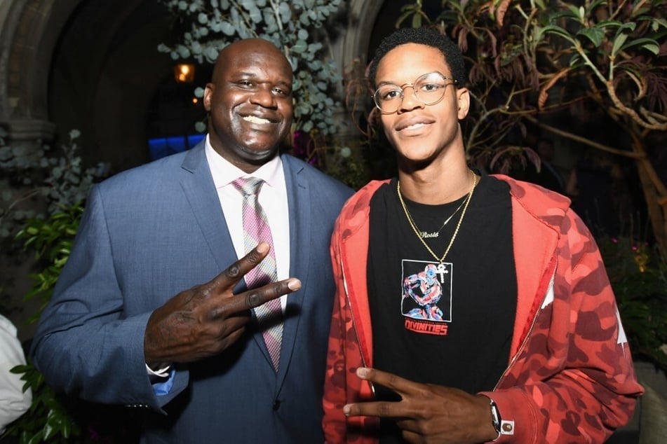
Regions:
M 517 312 L 510 359 L 494 391 L 506 434 L 497 443 L 603 443 L 633 415 L 643 388 L 598 247 L 566 197 L 510 186 Z M 331 243 L 337 281 L 323 399 L 326 442 L 376 443 L 375 418 L 343 405 L 372 399 L 356 377 L 372 367 L 366 285 L 372 181 L 345 204 Z M 368 433 L 368 432 L 371 433 Z

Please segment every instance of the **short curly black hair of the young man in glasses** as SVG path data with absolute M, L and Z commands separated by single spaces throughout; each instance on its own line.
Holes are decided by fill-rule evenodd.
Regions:
M 393 48 L 396 48 L 396 46 L 407 43 L 418 43 L 419 45 L 431 46 L 440 50 L 440 53 L 443 53 L 443 57 L 445 57 L 447 66 L 452 71 L 452 76 L 458 81 L 458 86 L 466 85 L 466 66 L 463 54 L 461 54 L 461 50 L 456 43 L 437 29 L 422 27 L 400 28 L 382 39 L 377 50 L 375 50 L 375 55 L 373 55 L 368 71 L 368 81 L 370 81 L 372 88 L 377 86 L 375 84 L 375 76 L 377 75 L 377 65 L 382 60 L 382 57 L 393 50 Z

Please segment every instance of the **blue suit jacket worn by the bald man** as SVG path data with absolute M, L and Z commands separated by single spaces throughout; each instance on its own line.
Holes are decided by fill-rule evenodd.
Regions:
M 143 341 L 151 312 L 236 261 L 199 144 L 91 190 L 33 342 L 34 363 L 48 384 L 88 401 L 145 407 L 144 442 L 322 442 L 335 291 L 328 247 L 351 190 L 301 160 L 282 160 L 290 276 L 303 285 L 288 296 L 277 375 L 250 324 L 231 349 L 176 365 L 168 394 L 156 396 L 147 376 Z

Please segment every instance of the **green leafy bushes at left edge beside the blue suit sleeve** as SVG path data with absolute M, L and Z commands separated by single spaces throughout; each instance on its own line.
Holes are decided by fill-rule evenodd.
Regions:
M 25 251 L 34 252 L 40 271 L 31 275 L 34 286 L 25 295 L 25 300 L 40 301 L 39 310 L 28 320 L 32 323 L 50 300 L 69 257 L 83 214 L 81 202 L 93 183 L 102 179 L 105 169 L 103 165 L 82 166 L 77 130 L 69 133 L 69 144 L 60 152 L 49 146 L 30 152 L 22 146 L 5 144 L 4 136 L 0 134 L 0 179 L 8 187 L 3 195 L 6 204 L 0 205 L 1 251 L 15 254 L 13 245 L 22 242 Z M 4 436 L 15 436 L 21 444 L 90 442 L 83 436 L 80 422 L 32 363 L 12 371 L 22 375 L 24 389 L 32 390 L 33 400 L 29 411 L 10 424 Z

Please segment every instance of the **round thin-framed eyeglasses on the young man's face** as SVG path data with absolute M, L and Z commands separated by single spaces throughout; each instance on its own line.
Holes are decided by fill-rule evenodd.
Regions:
M 403 96 L 405 95 L 405 88 L 412 88 L 415 91 L 415 97 L 424 105 L 433 105 L 440 102 L 445 97 L 445 89 L 447 88 L 446 81 L 452 81 L 457 85 L 459 81 L 443 76 L 439 72 L 429 72 L 417 77 L 412 83 L 405 83 L 401 86 L 393 83 L 386 83 L 380 85 L 373 95 L 375 106 L 383 113 L 395 113 L 403 103 Z

